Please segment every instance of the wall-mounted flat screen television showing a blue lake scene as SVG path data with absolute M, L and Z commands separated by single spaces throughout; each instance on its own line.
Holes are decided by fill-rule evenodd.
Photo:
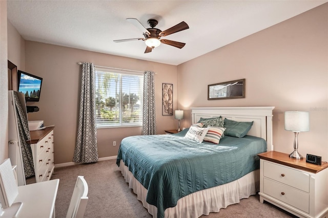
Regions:
M 41 93 L 42 78 L 17 71 L 18 92 L 24 93 L 26 101 L 39 101 Z

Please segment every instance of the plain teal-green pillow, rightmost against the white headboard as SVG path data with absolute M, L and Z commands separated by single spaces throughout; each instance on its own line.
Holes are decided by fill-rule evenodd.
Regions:
M 237 122 L 234 120 L 229 120 L 224 118 L 224 127 L 226 130 L 224 131 L 224 135 L 226 136 L 233 136 L 237 138 L 242 138 L 251 129 L 253 122 Z

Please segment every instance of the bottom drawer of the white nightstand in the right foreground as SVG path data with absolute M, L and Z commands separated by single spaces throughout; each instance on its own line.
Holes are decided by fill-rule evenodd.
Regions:
M 297 180 L 295 180 L 297 181 Z M 273 198 L 309 213 L 310 195 L 281 183 L 263 179 L 263 190 Z

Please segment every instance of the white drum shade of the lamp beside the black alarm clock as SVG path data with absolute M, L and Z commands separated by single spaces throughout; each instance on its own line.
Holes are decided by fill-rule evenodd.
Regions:
M 307 132 L 310 130 L 309 112 L 286 111 L 285 130 L 293 132 Z

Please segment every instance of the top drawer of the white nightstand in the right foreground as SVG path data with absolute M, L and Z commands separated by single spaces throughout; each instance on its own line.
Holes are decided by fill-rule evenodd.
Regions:
M 268 161 L 264 161 L 263 167 L 264 177 L 309 192 L 310 176 L 308 173 Z

